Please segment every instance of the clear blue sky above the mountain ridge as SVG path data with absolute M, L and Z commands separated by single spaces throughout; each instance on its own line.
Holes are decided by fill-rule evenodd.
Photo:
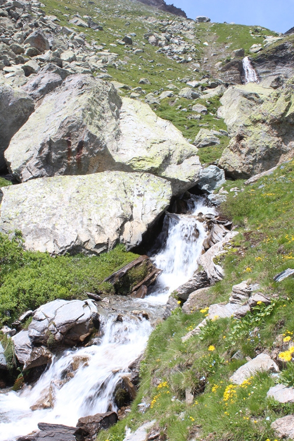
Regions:
M 212 22 L 261 25 L 277 32 L 294 26 L 294 0 L 166 0 L 189 18 L 206 15 Z

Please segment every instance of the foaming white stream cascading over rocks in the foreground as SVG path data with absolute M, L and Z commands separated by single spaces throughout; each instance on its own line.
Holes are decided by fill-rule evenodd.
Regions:
M 144 305 L 154 313 L 157 305 L 158 311 L 171 292 L 197 269 L 206 232 L 196 215 L 214 210 L 196 197 L 190 200 L 190 209 L 191 214 L 167 215 L 168 237 L 152 258 L 163 272 L 150 295 L 133 300 L 134 309 Z M 117 313 L 102 319 L 101 338 L 95 344 L 56 356 L 33 387 L 0 393 L 0 441 L 24 436 L 37 429 L 41 421 L 75 426 L 80 417 L 117 410 L 115 388 L 145 349 L 152 328 L 148 320 L 131 314 L 125 314 L 122 322 L 116 318 Z M 51 407 L 40 408 L 44 402 Z

